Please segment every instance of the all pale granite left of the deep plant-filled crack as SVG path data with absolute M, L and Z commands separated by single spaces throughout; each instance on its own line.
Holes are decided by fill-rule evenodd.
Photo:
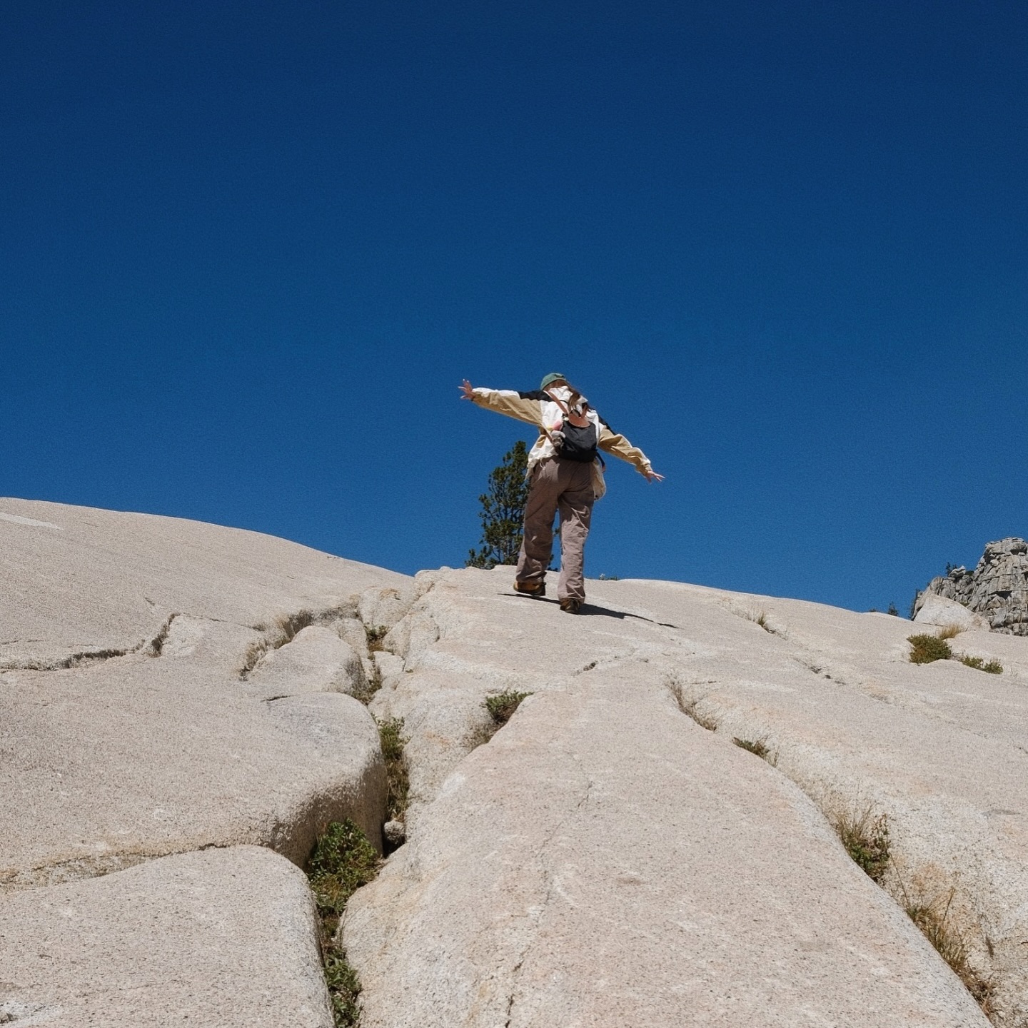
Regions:
M 330 819 L 379 839 L 378 731 L 345 693 L 374 666 L 361 595 L 411 581 L 20 500 L 0 553 L 0 1024 L 330 1028 L 294 864 Z

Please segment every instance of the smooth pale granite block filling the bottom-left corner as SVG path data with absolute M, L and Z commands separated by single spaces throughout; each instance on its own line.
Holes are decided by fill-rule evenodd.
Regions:
M 0 896 L 0 1024 L 332 1028 L 306 879 L 229 846 Z

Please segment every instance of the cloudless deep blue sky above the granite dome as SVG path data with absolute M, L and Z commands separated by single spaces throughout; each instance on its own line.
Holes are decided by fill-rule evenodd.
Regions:
M 463 563 L 567 374 L 591 575 L 906 610 L 1028 535 L 1028 5 L 0 8 L 0 494 Z

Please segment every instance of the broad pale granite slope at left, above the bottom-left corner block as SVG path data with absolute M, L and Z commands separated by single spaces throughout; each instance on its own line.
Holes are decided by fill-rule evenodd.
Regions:
M 409 579 L 176 518 L 0 513 L 0 884 L 205 845 L 302 861 L 333 816 L 379 839 L 363 669 L 325 625 Z

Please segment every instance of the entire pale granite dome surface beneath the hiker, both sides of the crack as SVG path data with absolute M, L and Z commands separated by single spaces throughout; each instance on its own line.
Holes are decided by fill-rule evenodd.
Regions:
M 1028 1024 L 1025 639 L 919 666 L 885 615 L 623 580 L 572 617 L 26 501 L 0 547 L 0 1024 L 331 1028 L 296 866 L 381 842 L 375 719 L 410 805 L 337 935 L 363 1028 Z

